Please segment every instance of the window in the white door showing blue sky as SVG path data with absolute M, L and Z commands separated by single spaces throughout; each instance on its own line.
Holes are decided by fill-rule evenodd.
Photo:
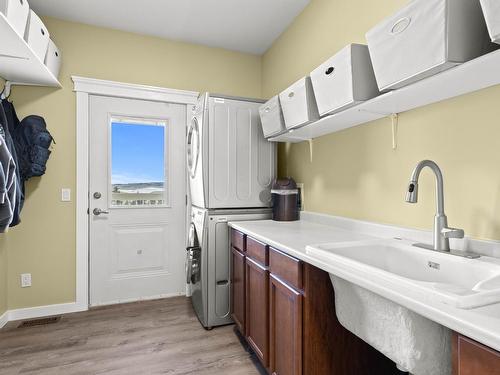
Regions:
M 110 206 L 166 206 L 166 122 L 112 118 L 110 139 Z

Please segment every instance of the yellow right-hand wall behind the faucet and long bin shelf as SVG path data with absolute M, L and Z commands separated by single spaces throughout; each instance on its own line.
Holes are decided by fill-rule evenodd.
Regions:
M 266 52 L 264 97 L 308 74 L 406 0 L 313 0 Z M 404 202 L 411 171 L 422 159 L 443 169 L 446 211 L 468 235 L 500 239 L 500 86 L 404 113 L 398 149 L 390 120 L 280 147 L 280 171 L 305 183 L 308 210 L 430 229 L 435 212 L 431 174 L 420 201 Z

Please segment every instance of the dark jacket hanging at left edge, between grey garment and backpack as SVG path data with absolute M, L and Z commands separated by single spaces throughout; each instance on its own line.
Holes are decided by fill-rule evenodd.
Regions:
M 19 168 L 18 158 L 17 158 L 17 150 L 12 138 L 12 133 L 15 131 L 16 127 L 19 126 L 19 119 L 17 118 L 16 111 L 12 103 L 9 103 L 7 100 L 2 100 L 0 105 L 0 125 L 3 127 L 5 133 L 5 143 L 7 145 L 7 149 L 9 150 L 15 168 L 15 176 L 16 176 L 16 191 L 15 191 L 15 207 L 13 213 L 13 219 L 10 223 L 10 226 L 16 226 L 21 222 L 21 209 L 24 204 L 24 183 L 21 180 L 21 174 Z

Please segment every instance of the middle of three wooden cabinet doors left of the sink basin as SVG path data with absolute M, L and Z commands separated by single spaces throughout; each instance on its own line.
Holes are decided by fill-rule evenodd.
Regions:
M 262 364 L 269 365 L 269 272 L 246 258 L 246 337 Z

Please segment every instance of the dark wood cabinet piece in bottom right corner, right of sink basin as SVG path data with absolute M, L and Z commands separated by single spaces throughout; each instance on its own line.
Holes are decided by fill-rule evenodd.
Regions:
M 500 375 L 500 353 L 457 333 L 452 341 L 453 375 Z

